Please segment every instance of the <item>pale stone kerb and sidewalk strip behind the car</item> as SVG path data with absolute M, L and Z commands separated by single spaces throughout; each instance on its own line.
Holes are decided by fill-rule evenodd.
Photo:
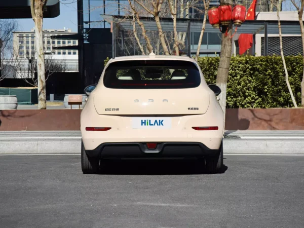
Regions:
M 227 131 L 224 154 L 304 154 L 304 131 Z M 0 154 L 80 154 L 80 131 L 0 131 Z

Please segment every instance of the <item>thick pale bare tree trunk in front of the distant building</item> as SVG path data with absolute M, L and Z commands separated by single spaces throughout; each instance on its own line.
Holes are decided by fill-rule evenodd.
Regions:
M 43 51 L 43 12 L 47 0 L 30 0 L 30 11 L 35 23 L 35 48 L 37 52 L 38 109 L 47 108 L 45 56 Z

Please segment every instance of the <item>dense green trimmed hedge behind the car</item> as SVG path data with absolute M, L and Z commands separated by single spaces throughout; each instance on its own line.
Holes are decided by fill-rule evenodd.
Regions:
M 289 83 L 301 102 L 302 56 L 285 56 Z M 105 63 L 107 60 L 105 60 Z M 208 84 L 215 84 L 219 57 L 201 57 L 199 65 Z M 233 56 L 227 84 L 227 108 L 292 107 L 280 56 Z

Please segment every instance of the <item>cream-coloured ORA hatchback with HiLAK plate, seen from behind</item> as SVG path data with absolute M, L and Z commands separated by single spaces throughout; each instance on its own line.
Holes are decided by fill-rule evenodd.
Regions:
M 97 85 L 85 89 L 82 170 L 108 158 L 196 157 L 209 172 L 223 163 L 223 111 L 192 58 L 110 59 Z

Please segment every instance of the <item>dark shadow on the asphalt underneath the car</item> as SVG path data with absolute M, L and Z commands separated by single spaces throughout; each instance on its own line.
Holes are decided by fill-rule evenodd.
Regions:
M 228 169 L 223 165 L 221 173 Z M 189 175 L 210 174 L 198 160 L 106 160 L 98 174 L 103 175 Z

